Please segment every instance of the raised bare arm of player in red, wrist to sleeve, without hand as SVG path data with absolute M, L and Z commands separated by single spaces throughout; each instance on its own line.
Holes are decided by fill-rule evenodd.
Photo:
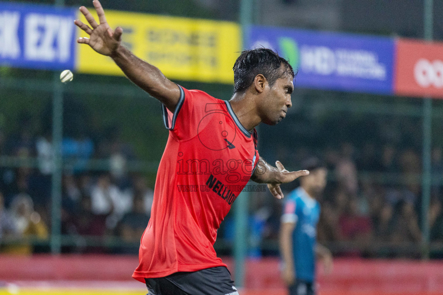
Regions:
M 123 46 L 119 46 L 111 57 L 129 80 L 160 100 L 170 111 L 175 110 L 180 96 L 179 88 L 157 67 L 136 57 Z

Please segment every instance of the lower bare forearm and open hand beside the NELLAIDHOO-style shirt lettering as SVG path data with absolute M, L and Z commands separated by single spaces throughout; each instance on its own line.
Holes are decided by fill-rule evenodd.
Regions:
M 288 170 L 284 169 L 284 166 L 280 163 L 280 161 L 276 161 L 277 167 L 274 167 L 264 161 L 262 157 L 260 157 L 257 165 L 258 166 L 256 167 L 251 180 L 261 184 L 268 184 L 269 191 L 277 199 L 283 199 L 284 197 L 280 184 L 294 181 L 300 176 L 309 174 L 309 171 L 307 170 L 289 172 Z

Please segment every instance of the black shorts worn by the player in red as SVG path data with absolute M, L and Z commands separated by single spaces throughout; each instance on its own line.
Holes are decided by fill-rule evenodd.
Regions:
M 144 280 L 149 295 L 238 295 L 231 274 L 224 266 Z

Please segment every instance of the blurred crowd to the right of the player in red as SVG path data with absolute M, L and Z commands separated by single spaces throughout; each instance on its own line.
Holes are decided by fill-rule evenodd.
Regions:
M 284 159 L 287 153 L 282 151 L 279 159 Z M 349 142 L 324 149 L 319 154 L 329 171 L 328 184 L 322 195 L 317 196 L 322 208 L 317 233 L 319 242 L 327 245 L 335 255 L 420 257 L 424 238 L 420 154 L 414 149 L 398 150 L 376 143 L 368 143 L 357 150 Z M 442 149 L 432 149 L 431 155 L 435 181 L 427 212 L 431 254 L 443 258 L 442 189 L 436 184 L 443 178 Z M 301 148 L 293 153 L 291 161 L 301 162 L 309 156 L 307 149 Z M 296 184 L 286 186 L 284 193 L 288 194 L 295 187 Z M 259 224 L 258 220 L 263 217 L 265 222 L 260 230 L 251 230 L 251 233 L 260 233 L 261 240 L 275 241 L 280 225 L 280 201 L 262 198 L 252 206 L 256 214 L 251 224 Z M 257 253 L 260 256 L 258 247 L 251 252 L 252 255 Z

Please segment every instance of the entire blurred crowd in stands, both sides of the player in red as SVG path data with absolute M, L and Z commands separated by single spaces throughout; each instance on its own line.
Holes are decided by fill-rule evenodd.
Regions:
M 0 167 L 0 251 L 3 253 L 48 250 L 31 240 L 23 240 L 44 240 L 51 232 L 51 138 L 45 134 L 35 136 L 30 124 L 24 117 L 17 133 L 6 135 L 0 131 L 0 155 L 36 157 L 38 167 Z M 307 150 L 286 149 L 277 156 L 284 163 L 299 163 L 310 156 Z M 376 142 L 360 147 L 344 142 L 318 154 L 330 172 L 328 185 L 318 196 L 322 206 L 319 241 L 336 255 L 419 256 L 423 239 L 419 151 Z M 100 244 L 101 239 L 118 237 L 119 241 L 135 245 L 116 246 L 112 251 L 138 253 L 136 243 L 150 218 L 153 184 L 148 185 L 146 177 L 125 169 L 125 163 L 136 158 L 131 145 L 123 142 L 118 132 L 109 130 L 95 142 L 86 136 L 64 138 L 62 155 L 65 160 L 77 160 L 62 178 L 62 234 L 76 237 L 75 245 L 64 246 L 63 251 L 109 252 L 105 244 Z M 109 159 L 110 171 L 86 170 L 85 165 L 93 158 Z M 440 148 L 432 150 L 432 172 L 440 181 L 443 176 Z M 390 177 L 396 181 L 382 181 Z M 295 186 L 284 187 L 284 193 L 288 194 Z M 440 249 L 443 245 L 441 196 L 441 187 L 434 184 L 428 218 L 431 242 Z M 276 254 L 282 202 L 268 192 L 253 192 L 250 200 L 250 255 Z M 233 241 L 233 227 L 230 213 L 218 234 L 228 245 Z M 100 238 L 93 240 L 96 244 L 91 246 L 85 240 L 88 236 Z

